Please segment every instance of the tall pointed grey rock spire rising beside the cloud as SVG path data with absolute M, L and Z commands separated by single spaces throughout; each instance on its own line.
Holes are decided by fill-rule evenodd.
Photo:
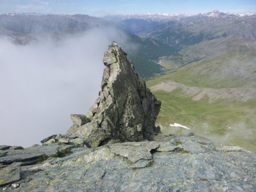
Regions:
M 160 101 L 138 77 L 126 53 L 114 42 L 105 52 L 106 68 L 100 96 L 86 116 L 89 123 L 76 123 L 67 134 L 78 134 L 89 147 L 124 141 L 152 140 Z M 74 120 L 73 120 L 74 122 Z

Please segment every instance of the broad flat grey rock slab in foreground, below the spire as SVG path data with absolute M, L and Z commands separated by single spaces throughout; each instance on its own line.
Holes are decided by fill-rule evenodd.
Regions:
M 42 146 L 41 150 L 49 150 L 47 147 Z M 18 187 L 13 189 L 7 184 L 10 182 L 5 182 L 0 191 L 7 188 L 7 191 L 250 192 L 256 186 L 255 157 L 255 152 L 241 147 L 183 135 L 159 141 L 106 144 L 93 149 L 71 147 L 67 156 L 46 157 L 34 165 L 21 164 L 20 169 L 15 168 L 17 177 L 10 176 L 10 182 Z M 13 164 L 6 168 L 10 166 Z M 6 172 L 6 168 L 0 169 L 0 180 L 6 178 L 3 172 L 12 173 L 13 169 Z

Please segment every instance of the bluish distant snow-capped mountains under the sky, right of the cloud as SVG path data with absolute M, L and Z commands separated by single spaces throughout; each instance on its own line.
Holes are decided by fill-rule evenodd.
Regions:
M 256 40 L 256 13 L 249 12 L 225 14 L 215 10 L 192 16 L 154 14 L 153 19 L 151 14 L 117 15 L 113 20 L 124 30 L 162 41 L 177 50 L 232 34 Z

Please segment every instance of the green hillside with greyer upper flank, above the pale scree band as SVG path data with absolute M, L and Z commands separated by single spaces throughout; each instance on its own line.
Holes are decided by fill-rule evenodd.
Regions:
M 232 45 L 232 42 L 236 46 Z M 220 50 L 214 51 L 218 47 Z M 199 52 L 204 56 L 198 59 L 199 61 L 193 62 L 199 56 Z M 198 87 L 255 87 L 255 53 L 254 41 L 239 41 L 236 37 L 205 41 L 182 49 L 176 54 L 179 57 L 170 56 L 170 62 L 177 64 L 177 68 L 180 69 L 175 73 L 154 78 L 148 81 L 148 85 L 153 86 L 164 80 L 173 80 Z M 165 66 L 168 67 L 167 62 Z M 172 68 L 173 65 L 169 67 Z

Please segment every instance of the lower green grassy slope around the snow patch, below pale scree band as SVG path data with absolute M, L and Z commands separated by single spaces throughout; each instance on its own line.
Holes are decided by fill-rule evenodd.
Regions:
M 162 126 L 164 134 L 193 132 L 217 142 L 256 150 L 256 99 L 246 103 L 224 99 L 208 102 L 207 97 L 193 101 L 182 96 L 180 90 L 153 93 L 162 101 L 156 124 Z M 170 127 L 170 123 L 179 123 L 191 130 Z

